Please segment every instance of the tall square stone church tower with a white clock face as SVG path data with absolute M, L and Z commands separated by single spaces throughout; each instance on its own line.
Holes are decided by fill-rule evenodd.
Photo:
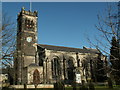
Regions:
M 24 84 L 25 68 L 30 64 L 38 64 L 37 59 L 37 11 L 25 11 L 18 14 L 17 54 L 15 59 L 15 83 Z

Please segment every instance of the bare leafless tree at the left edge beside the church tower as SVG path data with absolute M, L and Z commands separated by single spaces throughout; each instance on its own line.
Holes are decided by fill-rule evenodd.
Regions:
M 2 15 L 2 26 L 0 29 L 0 33 L 2 33 L 0 37 L 0 41 L 2 41 L 2 57 L 0 58 L 2 67 L 12 67 L 16 45 L 16 26 L 7 13 L 3 13 Z

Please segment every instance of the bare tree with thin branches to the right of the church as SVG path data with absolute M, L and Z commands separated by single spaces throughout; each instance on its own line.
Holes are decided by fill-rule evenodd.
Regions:
M 120 69 L 119 68 L 115 68 L 116 66 L 118 66 L 117 64 L 120 63 L 120 57 L 116 57 L 114 54 L 111 54 L 111 47 L 115 49 L 115 51 L 117 50 L 118 53 L 117 56 L 120 56 L 120 11 L 119 8 L 120 7 L 120 2 L 119 3 L 112 3 L 112 5 L 108 5 L 107 9 L 106 9 L 106 13 L 105 16 L 101 16 L 100 14 L 97 15 L 98 18 L 98 24 L 95 25 L 96 29 L 99 32 L 99 35 L 97 35 L 95 37 L 96 40 L 96 44 L 93 43 L 90 38 L 87 38 L 89 43 L 91 45 L 93 45 L 94 47 L 96 47 L 97 49 L 99 49 L 101 52 L 103 52 L 105 55 L 107 55 L 108 57 L 112 57 L 109 58 L 109 62 L 111 63 L 111 71 L 109 72 L 110 74 L 113 75 L 113 72 L 119 72 L 116 75 L 113 75 L 114 80 L 116 80 L 117 76 L 117 80 L 120 81 Z M 103 13 L 103 12 L 102 12 Z M 112 38 L 115 38 L 118 42 L 117 46 L 114 46 L 112 44 Z M 115 65 L 116 64 L 116 65 Z M 120 67 L 120 65 L 118 66 Z

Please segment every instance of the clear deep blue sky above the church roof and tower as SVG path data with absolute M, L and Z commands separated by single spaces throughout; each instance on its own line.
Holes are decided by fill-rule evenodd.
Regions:
M 106 2 L 32 2 L 32 11 L 38 11 L 38 44 L 83 48 L 92 47 L 87 36 L 94 38 L 99 32 L 97 14 L 104 14 Z M 22 7 L 30 10 L 29 2 L 3 2 L 6 12 L 17 23 Z M 93 47 L 92 47 L 93 48 Z

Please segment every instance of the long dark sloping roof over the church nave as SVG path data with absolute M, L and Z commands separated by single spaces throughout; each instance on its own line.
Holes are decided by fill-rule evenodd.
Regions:
M 63 46 L 53 46 L 53 45 L 45 45 L 45 44 L 38 44 L 38 46 L 46 48 L 48 50 L 55 50 L 55 51 L 66 51 L 66 52 L 78 52 L 78 53 L 100 53 L 97 49 L 88 49 L 88 48 L 72 48 L 72 47 L 63 47 Z

